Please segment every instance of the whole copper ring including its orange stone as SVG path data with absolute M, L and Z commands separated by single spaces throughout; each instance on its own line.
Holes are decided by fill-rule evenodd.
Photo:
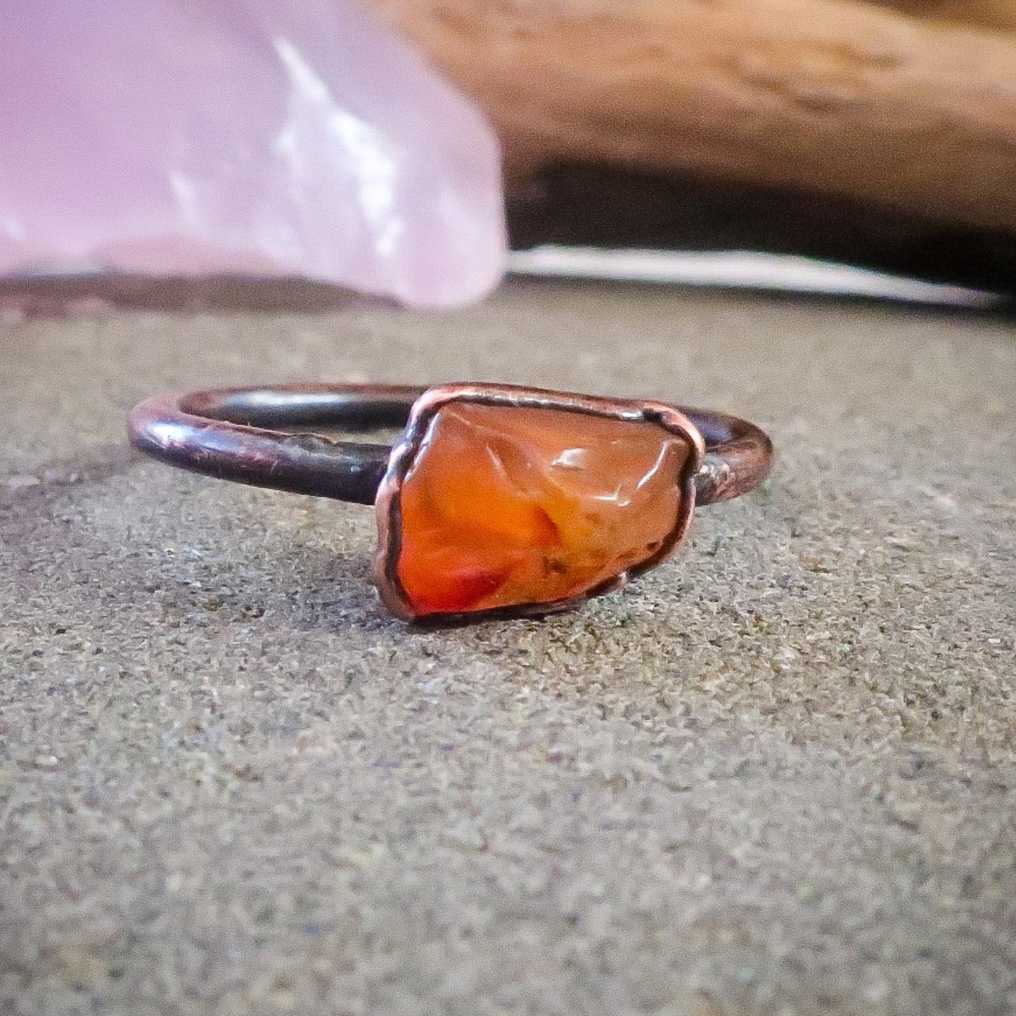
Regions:
M 293 433 L 404 427 L 394 447 Z M 696 505 L 758 486 L 753 424 L 663 402 L 493 384 L 298 384 L 148 399 L 135 447 L 221 480 L 373 504 L 397 617 L 543 615 L 669 557 Z

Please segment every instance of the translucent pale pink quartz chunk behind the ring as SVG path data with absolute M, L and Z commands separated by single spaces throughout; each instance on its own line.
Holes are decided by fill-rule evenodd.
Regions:
M 0 11 L 0 275 L 302 276 L 427 307 L 499 279 L 491 129 L 350 0 Z

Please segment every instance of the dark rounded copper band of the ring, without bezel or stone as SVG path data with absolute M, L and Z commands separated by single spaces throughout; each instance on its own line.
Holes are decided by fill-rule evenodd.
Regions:
M 389 445 L 287 430 L 403 427 L 427 390 L 414 385 L 311 383 L 162 395 L 131 412 L 130 438 L 141 451 L 193 472 L 370 505 L 388 466 Z M 538 389 L 499 390 L 547 396 L 549 404 L 559 395 Z M 614 404 L 623 409 L 629 403 Z M 763 431 L 722 412 L 674 408 L 694 424 L 705 446 L 695 478 L 696 505 L 728 501 L 761 483 L 772 461 L 772 443 Z

